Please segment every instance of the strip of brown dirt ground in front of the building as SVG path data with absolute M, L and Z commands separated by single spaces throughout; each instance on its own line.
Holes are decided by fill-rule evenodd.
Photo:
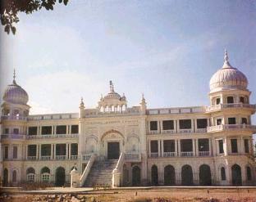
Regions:
M 64 195 L 64 197 L 63 197 Z M 172 201 L 203 201 L 203 202 L 256 202 L 255 189 L 193 189 L 193 188 L 153 188 L 150 190 L 108 190 L 88 191 L 80 194 L 9 194 L 0 199 L 1 202 L 35 202 L 35 201 L 127 201 L 127 202 L 172 202 Z

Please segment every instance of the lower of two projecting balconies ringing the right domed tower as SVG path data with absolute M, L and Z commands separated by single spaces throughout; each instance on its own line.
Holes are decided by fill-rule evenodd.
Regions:
M 248 125 L 248 124 L 225 124 L 225 125 L 211 126 L 207 128 L 207 132 L 222 132 L 222 131 L 235 131 L 235 130 L 256 132 L 256 126 Z

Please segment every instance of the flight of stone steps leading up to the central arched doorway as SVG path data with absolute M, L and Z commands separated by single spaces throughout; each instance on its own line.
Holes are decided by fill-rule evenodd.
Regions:
M 94 186 L 96 184 L 107 184 L 112 186 L 112 171 L 117 165 L 118 159 L 95 160 L 84 186 Z

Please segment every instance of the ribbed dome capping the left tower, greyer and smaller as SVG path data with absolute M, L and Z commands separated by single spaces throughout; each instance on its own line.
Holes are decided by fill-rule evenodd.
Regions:
M 16 84 L 15 79 L 13 83 L 8 85 L 2 97 L 3 101 L 11 102 L 14 104 L 26 105 L 29 101 L 28 93 L 25 92 L 21 86 Z

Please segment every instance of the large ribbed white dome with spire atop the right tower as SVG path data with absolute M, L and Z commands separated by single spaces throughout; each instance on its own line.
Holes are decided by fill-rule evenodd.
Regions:
M 227 52 L 225 51 L 224 65 L 221 70 L 217 70 L 210 80 L 210 90 L 216 88 L 240 88 L 246 89 L 248 80 L 240 70 L 232 67 L 228 61 Z

